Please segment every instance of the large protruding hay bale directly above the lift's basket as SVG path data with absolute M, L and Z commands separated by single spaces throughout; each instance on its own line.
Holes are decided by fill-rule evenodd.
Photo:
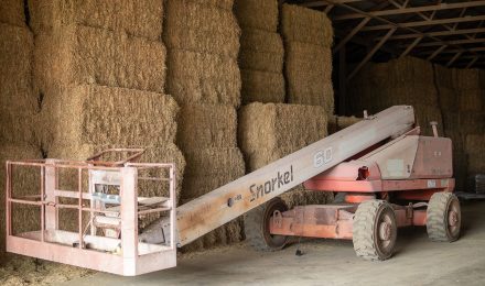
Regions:
M 82 85 L 46 101 L 47 148 L 53 143 L 153 146 L 175 141 L 179 107 L 169 96 Z

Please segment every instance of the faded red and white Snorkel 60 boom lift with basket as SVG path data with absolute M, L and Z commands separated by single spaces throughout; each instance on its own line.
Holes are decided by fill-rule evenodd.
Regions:
M 7 249 L 138 275 L 175 266 L 175 246 L 245 213 L 247 240 L 258 249 L 281 249 L 290 237 L 352 239 L 358 256 L 386 260 L 392 255 L 397 228 L 406 226 L 427 226 L 430 239 L 454 241 L 460 235 L 461 212 L 452 194 L 452 143 L 438 136 L 435 125 L 433 131 L 434 136 L 420 136 L 412 107 L 391 107 L 184 204 L 176 213 L 173 165 L 133 163 L 140 154 L 115 163 L 100 162 L 103 154 L 86 162 L 8 162 Z M 34 200 L 13 196 L 13 166 L 41 169 L 41 196 Z M 139 175 L 163 167 L 169 168 L 168 178 Z M 58 168 L 77 169 L 77 190 L 57 189 Z M 87 191 L 83 190 L 83 170 L 88 173 Z M 143 179 L 168 182 L 170 198 L 139 198 L 137 186 Z M 278 196 L 299 184 L 314 191 L 345 193 L 345 202 L 289 210 Z M 99 188 L 107 185 L 118 193 Z M 67 207 L 58 204 L 58 197 L 77 198 L 77 206 L 68 207 L 78 210 L 77 233 L 58 229 L 58 209 Z M 39 206 L 41 230 L 14 233 L 13 204 Z M 84 212 L 93 222 L 89 233 L 80 227 Z M 149 213 L 160 218 L 139 229 L 138 218 Z M 96 223 L 108 231 L 100 233 Z

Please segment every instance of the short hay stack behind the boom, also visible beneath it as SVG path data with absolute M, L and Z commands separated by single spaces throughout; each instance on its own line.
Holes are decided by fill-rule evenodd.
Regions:
M 326 136 L 324 107 L 250 103 L 239 111 L 239 145 L 249 172 L 268 165 Z M 302 194 L 302 187 L 284 194 L 288 205 L 326 202 L 327 195 Z

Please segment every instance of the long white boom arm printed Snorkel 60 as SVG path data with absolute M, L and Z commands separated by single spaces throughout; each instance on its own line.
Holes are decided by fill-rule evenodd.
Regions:
M 413 124 L 412 107 L 388 108 L 180 206 L 177 245 L 194 241 L 385 139 L 406 133 Z

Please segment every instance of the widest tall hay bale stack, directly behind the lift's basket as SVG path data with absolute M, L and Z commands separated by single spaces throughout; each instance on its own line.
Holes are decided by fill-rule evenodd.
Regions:
M 29 6 L 42 109 L 37 138 L 48 157 L 86 160 L 107 147 L 146 147 L 141 162 L 176 164 L 180 195 L 185 163 L 175 145 L 179 107 L 163 89 L 163 1 Z M 168 188 L 140 186 L 139 195 L 166 196 Z

